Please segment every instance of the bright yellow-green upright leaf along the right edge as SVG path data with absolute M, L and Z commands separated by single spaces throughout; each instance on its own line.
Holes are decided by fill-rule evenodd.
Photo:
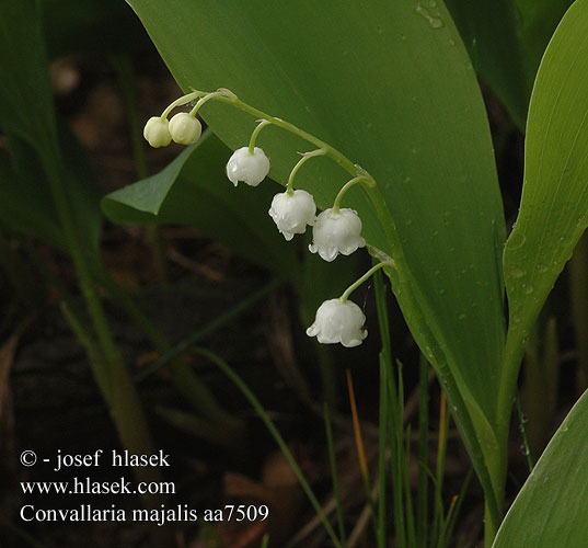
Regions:
M 588 226 L 586 28 L 588 0 L 578 0 L 545 52 L 531 98 L 520 212 L 504 255 L 512 363 Z

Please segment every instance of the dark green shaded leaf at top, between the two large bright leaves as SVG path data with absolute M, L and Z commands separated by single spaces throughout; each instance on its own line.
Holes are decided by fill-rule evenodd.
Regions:
M 515 2 L 447 0 L 446 3 L 474 68 L 506 105 L 515 123 L 523 128 L 535 64 L 521 39 Z

